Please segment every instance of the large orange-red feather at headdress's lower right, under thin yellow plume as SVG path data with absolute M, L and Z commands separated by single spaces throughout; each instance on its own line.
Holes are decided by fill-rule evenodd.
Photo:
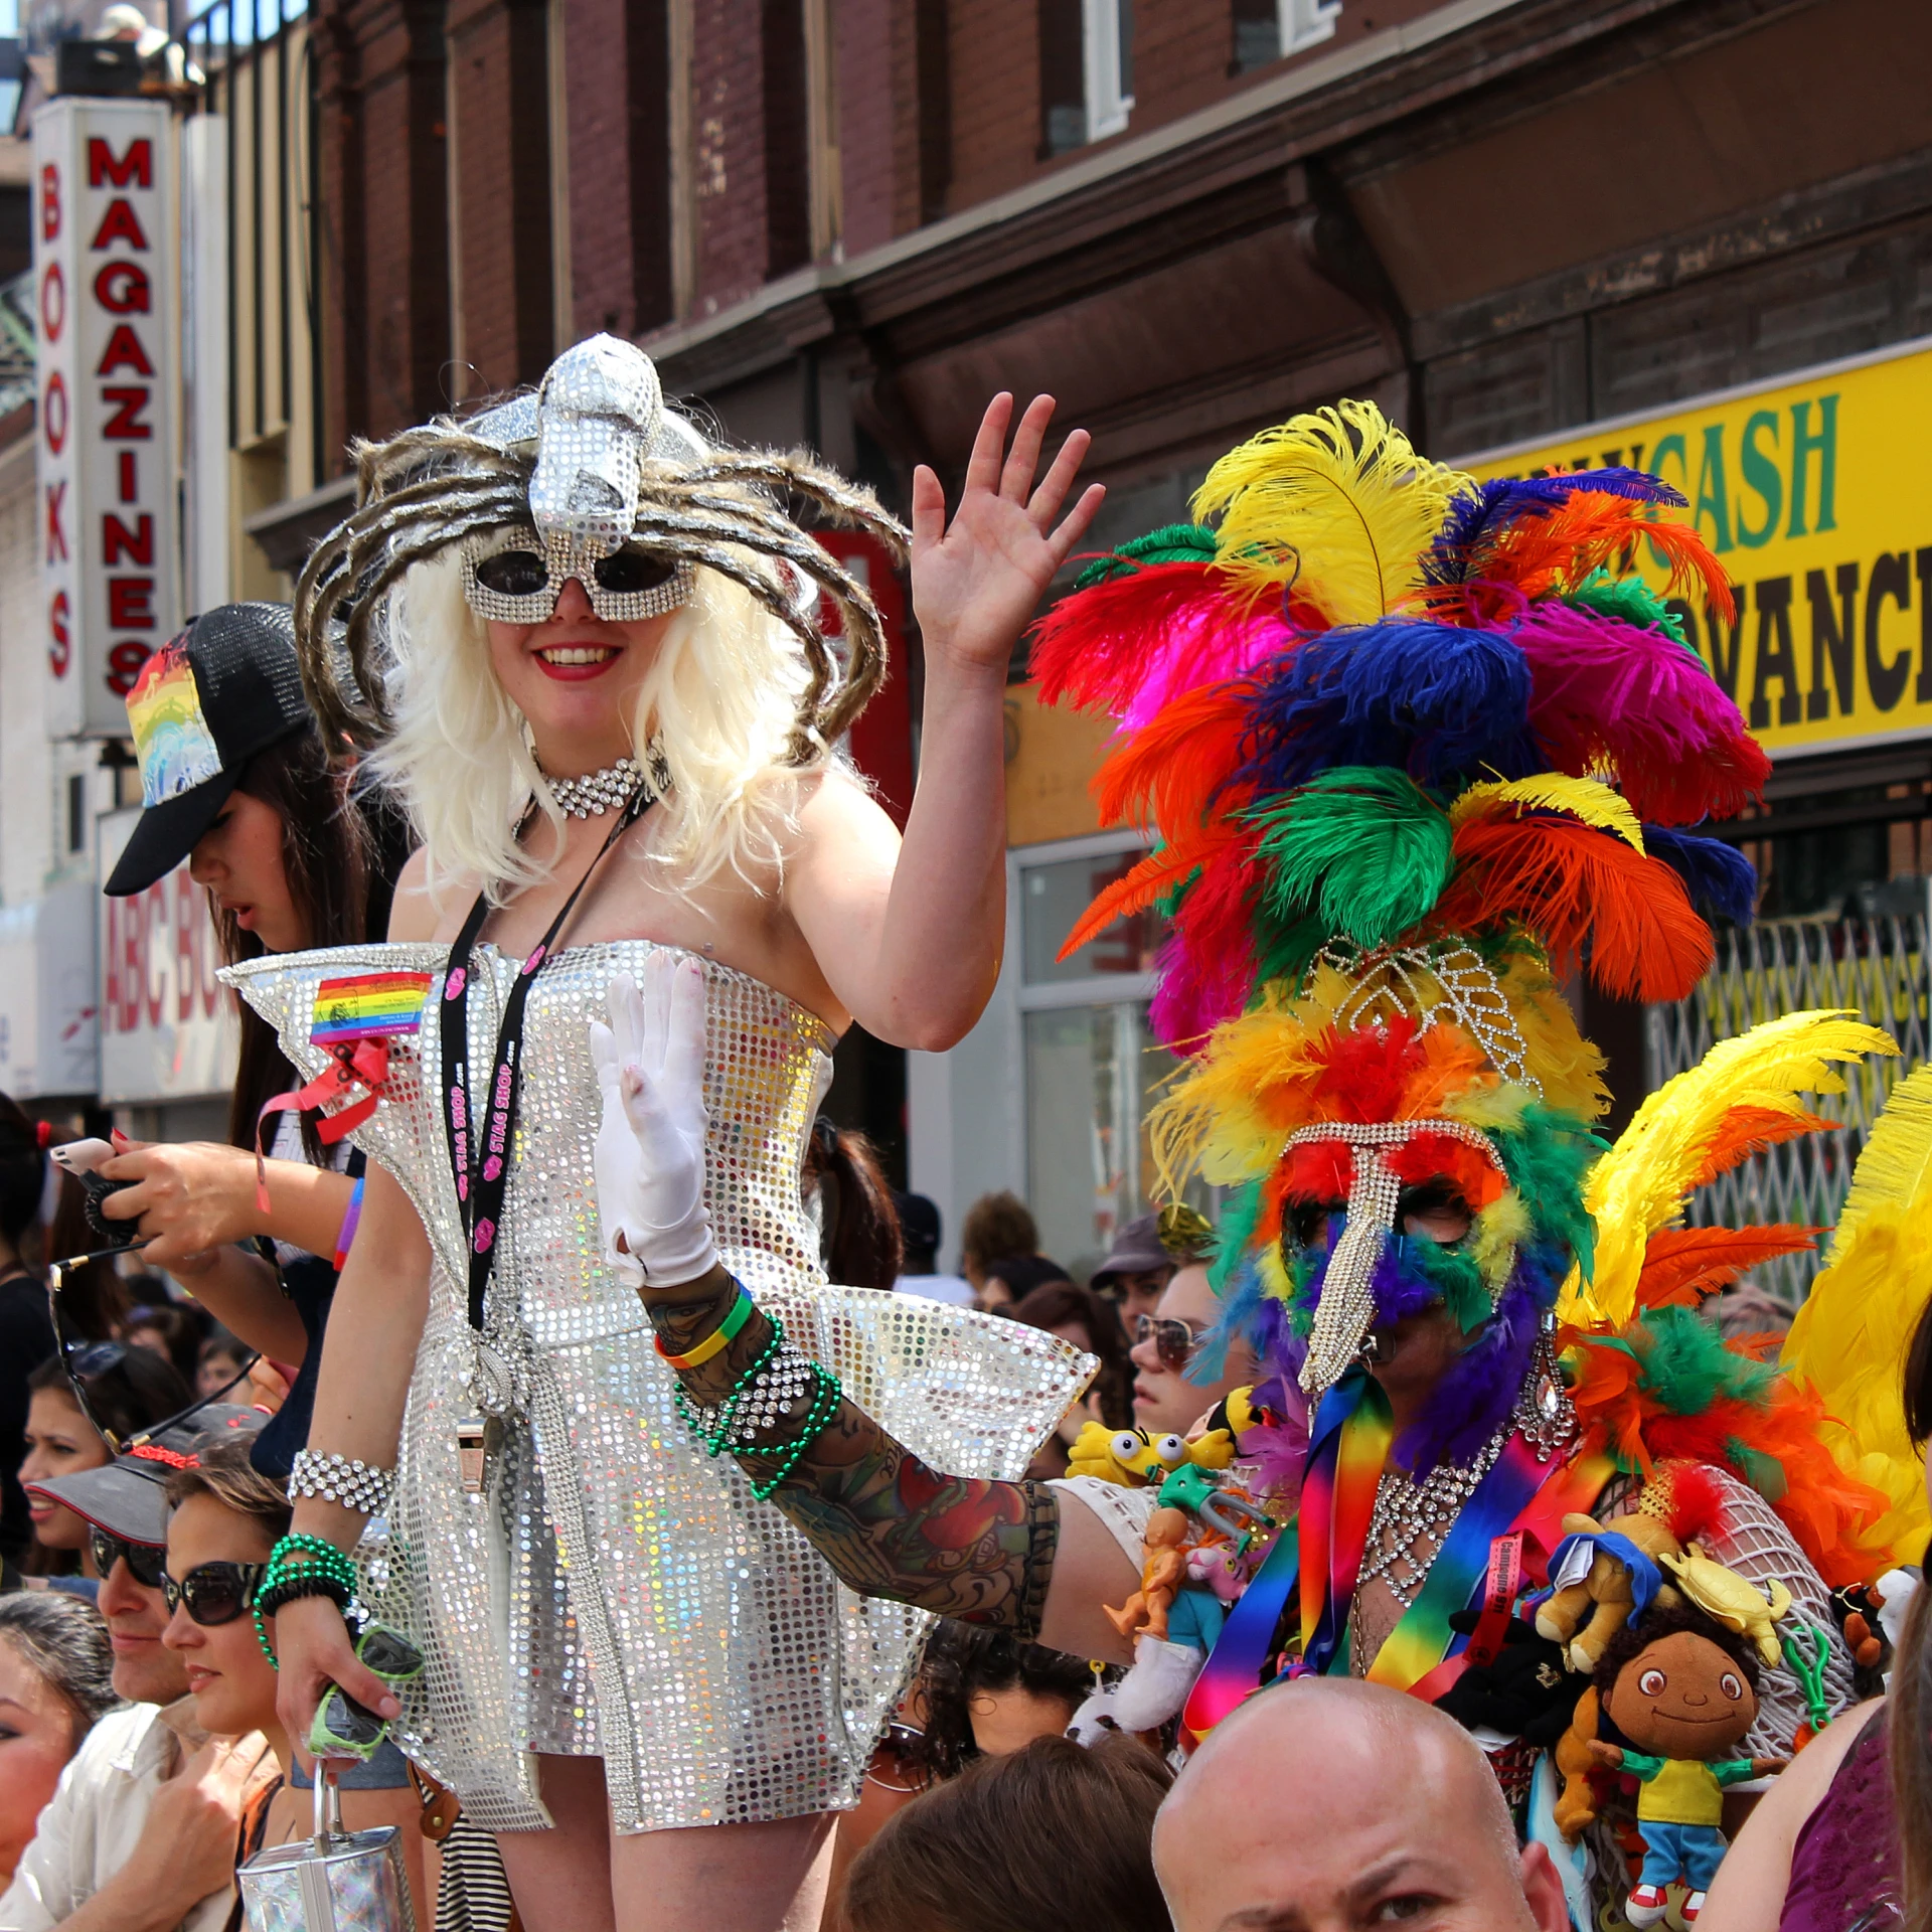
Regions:
M 1646 1003 L 1685 999 L 1712 962 L 1710 927 L 1662 860 L 1565 817 L 1468 819 L 1437 931 L 1528 927 L 1563 978 L 1590 943 L 1590 976 Z

